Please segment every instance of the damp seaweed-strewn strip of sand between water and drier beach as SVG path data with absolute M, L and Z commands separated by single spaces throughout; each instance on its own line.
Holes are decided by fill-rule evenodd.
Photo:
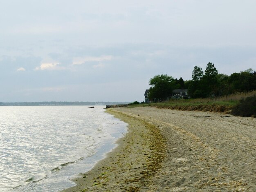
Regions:
M 72 179 L 76 186 L 61 192 L 143 190 L 159 169 L 165 145 L 158 127 L 115 109 L 107 112 L 128 123 L 128 132 L 91 170 Z

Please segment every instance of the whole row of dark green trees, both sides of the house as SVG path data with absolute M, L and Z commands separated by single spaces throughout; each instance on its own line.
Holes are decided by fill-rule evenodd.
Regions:
M 166 100 L 172 95 L 173 89 L 188 89 L 191 98 L 220 97 L 236 92 L 249 92 L 256 89 L 256 72 L 253 69 L 233 73 L 230 76 L 219 74 L 213 63 L 208 63 L 203 71 L 195 66 L 192 80 L 174 79 L 172 76 L 161 74 L 149 80 L 150 100 L 157 98 Z

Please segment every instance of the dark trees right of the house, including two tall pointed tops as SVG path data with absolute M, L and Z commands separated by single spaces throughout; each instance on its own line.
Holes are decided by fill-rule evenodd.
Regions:
M 185 82 L 192 98 L 220 97 L 236 92 L 256 89 L 256 72 L 253 69 L 233 73 L 230 76 L 218 74 L 214 64 L 208 63 L 205 71 L 195 66 L 192 80 Z

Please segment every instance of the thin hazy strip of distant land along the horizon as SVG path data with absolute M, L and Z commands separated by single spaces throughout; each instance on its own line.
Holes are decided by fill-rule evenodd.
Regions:
M 0 102 L 0 106 L 79 106 L 79 105 L 120 105 L 130 102 L 89 102 L 89 101 L 43 101 L 43 102 Z

